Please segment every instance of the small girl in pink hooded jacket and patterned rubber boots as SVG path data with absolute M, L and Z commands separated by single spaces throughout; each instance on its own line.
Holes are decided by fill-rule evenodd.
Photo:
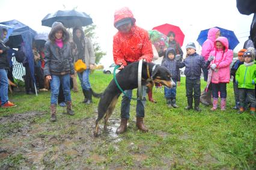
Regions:
M 210 68 L 212 69 L 212 95 L 213 108 L 218 106 L 218 93 L 221 93 L 221 111 L 226 109 L 227 83 L 230 82 L 230 64 L 233 59 L 233 50 L 228 49 L 228 39 L 219 37 L 214 43 L 215 49 L 210 52 L 210 56 L 215 56 Z

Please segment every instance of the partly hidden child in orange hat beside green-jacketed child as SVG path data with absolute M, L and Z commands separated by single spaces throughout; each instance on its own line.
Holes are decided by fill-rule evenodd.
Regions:
M 246 49 L 242 49 L 240 50 L 237 55 L 238 55 L 238 59 L 236 62 L 234 62 L 234 64 L 232 65 L 231 67 L 231 70 L 230 70 L 230 75 L 233 76 L 233 88 L 234 88 L 234 97 L 235 97 L 235 102 L 236 102 L 236 106 L 233 107 L 233 109 L 236 109 L 238 110 L 240 108 L 239 106 L 239 92 L 238 92 L 238 85 L 237 85 L 237 82 L 236 82 L 236 71 L 237 69 L 239 68 L 239 66 L 241 64 L 243 64 L 243 53 L 246 51 Z

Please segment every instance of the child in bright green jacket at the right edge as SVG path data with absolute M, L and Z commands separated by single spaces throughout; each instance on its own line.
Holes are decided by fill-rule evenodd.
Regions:
M 236 80 L 239 89 L 240 111 L 242 114 L 245 111 L 245 99 L 247 97 L 248 102 L 251 104 L 251 115 L 255 115 L 255 82 L 256 82 L 256 65 L 254 64 L 255 50 L 253 47 L 249 47 L 246 52 L 243 53 L 245 62 L 240 65 L 236 71 Z

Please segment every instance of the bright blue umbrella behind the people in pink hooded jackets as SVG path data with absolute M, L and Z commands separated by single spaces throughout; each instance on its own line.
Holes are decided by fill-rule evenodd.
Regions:
M 239 44 L 239 40 L 237 40 L 237 37 L 234 34 L 234 31 L 230 31 L 228 29 L 220 28 L 218 26 L 215 26 L 215 28 L 218 28 L 221 31 L 221 36 L 222 37 L 228 38 L 228 44 L 229 44 L 228 48 L 229 49 L 233 50 L 237 46 L 237 44 Z M 197 41 L 201 46 L 203 45 L 204 41 L 207 40 L 209 29 L 204 29 L 204 30 L 200 31 L 200 34 L 198 35 Z

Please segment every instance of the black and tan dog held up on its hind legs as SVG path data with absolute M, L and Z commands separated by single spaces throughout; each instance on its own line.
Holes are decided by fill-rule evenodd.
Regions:
M 133 62 L 127 65 L 116 75 L 118 84 L 122 90 L 133 90 L 138 88 L 138 64 L 139 62 Z M 171 79 L 171 73 L 167 68 L 153 63 L 142 62 L 142 78 L 141 85 L 145 85 L 149 88 L 153 88 L 154 82 L 161 83 L 166 87 L 174 87 L 175 83 Z M 93 92 L 93 90 L 92 90 Z M 108 122 L 109 117 L 114 111 L 115 104 L 117 103 L 118 97 L 121 91 L 117 87 L 115 80 L 112 79 L 106 90 L 97 94 L 93 92 L 94 97 L 100 97 L 98 105 L 98 118 L 96 120 L 96 127 L 94 130 L 94 136 L 96 137 L 99 132 L 99 121 L 105 116 L 105 126 Z

